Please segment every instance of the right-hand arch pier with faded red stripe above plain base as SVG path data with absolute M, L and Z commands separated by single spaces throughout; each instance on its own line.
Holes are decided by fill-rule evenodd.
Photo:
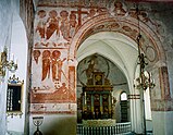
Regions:
M 153 70 L 156 87 L 151 89 L 152 125 L 155 135 L 171 135 L 173 133 L 173 99 L 171 98 L 168 66 Z

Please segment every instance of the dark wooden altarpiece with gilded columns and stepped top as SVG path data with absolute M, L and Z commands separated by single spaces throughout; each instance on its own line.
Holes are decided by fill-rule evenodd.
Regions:
M 92 77 L 83 86 L 82 119 L 112 119 L 112 89 L 103 72 L 92 72 Z

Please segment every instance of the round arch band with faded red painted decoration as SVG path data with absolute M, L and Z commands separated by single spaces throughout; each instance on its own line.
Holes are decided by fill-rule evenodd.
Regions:
M 138 21 L 134 17 L 127 16 L 123 19 L 112 17 L 109 14 L 103 14 L 95 16 L 92 20 L 85 22 L 77 30 L 73 37 L 72 44 L 69 50 L 69 59 L 74 60 L 76 58 L 76 52 L 82 42 L 89 36 L 99 32 L 119 32 L 136 41 L 138 36 Z M 165 63 L 165 53 L 162 47 L 160 35 L 151 29 L 147 24 L 140 22 L 140 33 L 144 36 L 143 45 L 146 48 L 141 48 L 146 51 L 147 47 L 153 49 L 156 60 L 151 63 L 157 63 L 158 61 L 162 64 Z M 150 45 L 150 46 L 147 46 Z M 147 52 L 147 51 L 146 51 Z

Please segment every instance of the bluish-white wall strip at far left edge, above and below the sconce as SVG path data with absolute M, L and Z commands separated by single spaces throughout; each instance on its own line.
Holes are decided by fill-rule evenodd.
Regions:
M 10 45 L 10 33 L 11 33 L 11 0 L 0 1 L 0 52 L 3 51 L 4 46 Z M 0 135 L 5 134 L 5 89 L 7 89 L 7 77 L 4 82 L 0 83 Z

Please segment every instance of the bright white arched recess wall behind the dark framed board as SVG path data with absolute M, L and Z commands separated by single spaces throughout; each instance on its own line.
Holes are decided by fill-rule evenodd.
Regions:
M 25 95 L 26 95 L 26 69 L 27 69 L 27 39 L 25 27 L 21 17 L 16 14 L 14 15 L 12 27 L 12 40 L 11 40 L 11 53 L 14 54 L 14 61 L 17 61 L 18 69 L 14 73 L 20 81 L 24 81 L 24 89 L 22 94 L 22 116 L 8 116 L 8 131 L 17 132 L 18 134 L 24 134 L 24 122 L 25 122 Z M 12 76 L 12 73 L 9 73 L 9 76 Z M 17 123 L 17 124 L 16 124 Z

